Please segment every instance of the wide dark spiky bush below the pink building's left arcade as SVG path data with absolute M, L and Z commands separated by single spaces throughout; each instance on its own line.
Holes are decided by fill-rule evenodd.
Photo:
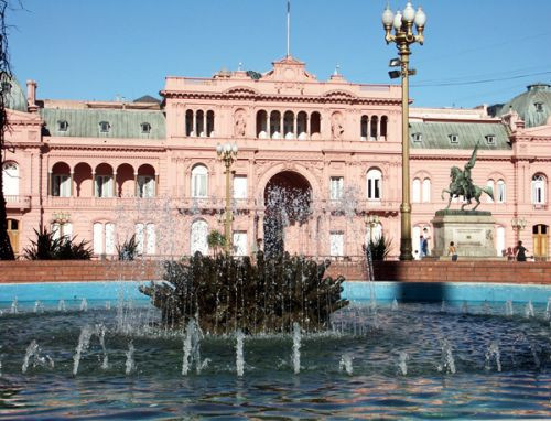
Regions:
M 88 241 L 75 242 L 75 238 L 54 238 L 54 233 L 46 228 L 34 230 L 35 240 L 23 250 L 29 260 L 89 260 L 93 256 Z

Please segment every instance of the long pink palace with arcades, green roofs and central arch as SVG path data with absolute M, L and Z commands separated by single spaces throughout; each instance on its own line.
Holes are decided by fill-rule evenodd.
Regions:
M 98 256 L 115 255 L 132 234 L 143 255 L 208 252 L 208 231 L 224 231 L 225 168 L 216 145 L 225 142 L 238 147 L 237 253 L 276 245 L 358 256 L 380 233 L 399 253 L 399 86 L 352 84 L 337 73 L 321 82 L 285 57 L 264 74 L 166 77 L 161 102 L 39 99 L 32 80 L 26 99 L 15 80 L 2 88 L 12 145 L 3 188 L 20 255 L 40 226 L 89 240 Z M 520 238 L 530 253 L 549 257 L 550 107 L 550 86 L 538 84 L 491 107 L 496 117 L 486 107 L 411 109 L 413 250 L 446 205 L 450 168 L 463 166 L 479 142 L 473 180 L 495 191 L 479 208 L 496 218 L 496 256 Z M 293 194 L 270 193 L 282 187 Z M 516 229 L 515 218 L 522 223 Z

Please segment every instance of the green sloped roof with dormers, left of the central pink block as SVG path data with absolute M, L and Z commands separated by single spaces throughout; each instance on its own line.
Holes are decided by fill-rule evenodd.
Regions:
M 166 120 L 161 110 L 129 109 L 60 109 L 41 108 L 45 122 L 46 136 L 72 138 L 118 138 L 118 139 L 165 139 Z M 62 130 L 60 121 L 66 121 Z M 109 123 L 109 130 L 102 132 L 100 122 Z M 142 123 L 151 126 L 150 132 L 143 132 Z

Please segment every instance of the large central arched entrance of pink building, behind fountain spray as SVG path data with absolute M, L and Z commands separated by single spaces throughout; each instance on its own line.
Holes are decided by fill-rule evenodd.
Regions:
M 312 186 L 294 171 L 270 179 L 264 190 L 264 251 L 307 253 L 307 223 L 311 216 Z

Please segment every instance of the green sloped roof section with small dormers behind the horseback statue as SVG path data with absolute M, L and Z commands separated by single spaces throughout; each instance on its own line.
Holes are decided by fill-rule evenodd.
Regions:
M 415 141 L 415 134 L 421 140 Z M 457 143 L 452 143 L 450 136 L 457 136 Z M 494 136 L 494 143 L 486 141 Z M 500 122 L 410 122 L 410 148 L 412 149 L 468 149 L 479 142 L 480 150 L 510 150 L 509 136 Z

